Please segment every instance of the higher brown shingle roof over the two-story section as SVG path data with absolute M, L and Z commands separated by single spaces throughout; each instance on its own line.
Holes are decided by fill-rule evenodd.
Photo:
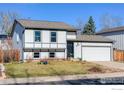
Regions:
M 70 26 L 64 22 L 28 19 L 18 19 L 16 21 L 19 22 L 25 28 L 76 31 L 73 26 Z

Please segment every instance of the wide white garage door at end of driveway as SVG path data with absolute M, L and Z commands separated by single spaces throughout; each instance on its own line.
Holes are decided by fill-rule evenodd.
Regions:
M 111 61 L 110 47 L 82 47 L 82 60 Z

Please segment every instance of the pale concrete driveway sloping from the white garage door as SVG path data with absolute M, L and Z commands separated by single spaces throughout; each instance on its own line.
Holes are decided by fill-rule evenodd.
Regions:
M 99 65 L 103 65 L 109 68 L 115 68 L 115 69 L 121 69 L 124 70 L 124 63 L 119 63 L 119 62 L 103 62 L 103 61 L 94 61 L 91 63 L 96 63 Z

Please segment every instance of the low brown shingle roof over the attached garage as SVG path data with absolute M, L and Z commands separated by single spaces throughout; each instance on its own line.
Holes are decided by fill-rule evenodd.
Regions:
M 68 41 L 83 41 L 83 42 L 113 42 L 113 40 L 105 38 L 101 35 L 79 35 L 76 39 Z

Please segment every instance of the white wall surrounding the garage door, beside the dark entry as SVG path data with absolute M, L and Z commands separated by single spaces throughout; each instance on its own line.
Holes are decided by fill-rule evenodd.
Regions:
M 98 46 L 98 47 L 111 47 L 111 58 L 113 60 L 113 48 L 112 43 L 87 43 L 87 42 L 74 42 L 74 58 L 82 59 L 82 47 Z

